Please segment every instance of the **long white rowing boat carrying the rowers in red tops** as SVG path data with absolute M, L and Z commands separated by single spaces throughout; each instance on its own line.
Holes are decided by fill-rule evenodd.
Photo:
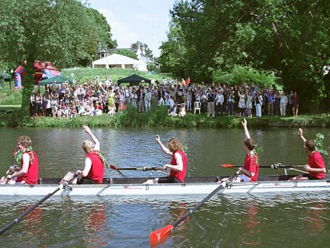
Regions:
M 267 192 L 327 192 L 330 174 L 323 180 L 287 181 L 294 175 L 259 176 L 257 182 L 225 183 L 220 194 Z M 100 185 L 61 185 L 56 195 L 69 196 L 151 196 L 210 194 L 220 176 L 186 177 L 184 183 L 143 184 L 146 178 L 104 178 Z M 45 196 L 58 188 L 60 178 L 39 178 L 38 185 L 0 185 L 0 196 Z

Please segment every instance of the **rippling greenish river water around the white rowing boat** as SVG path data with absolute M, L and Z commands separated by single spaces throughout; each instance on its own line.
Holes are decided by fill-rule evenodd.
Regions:
M 187 176 L 230 175 L 234 169 L 221 164 L 243 165 L 243 129 L 110 129 L 92 130 L 100 139 L 109 164 L 116 167 L 159 167 L 170 162 L 155 142 L 177 137 L 186 147 Z M 296 128 L 250 128 L 263 153 L 261 165 L 304 165 L 307 154 Z M 306 138 L 325 135 L 330 150 L 330 129 L 309 127 Z M 0 128 L 0 174 L 12 164 L 20 135 L 32 138 L 39 157 L 39 176 L 62 177 L 82 169 L 81 142 L 89 138 L 81 129 Z M 323 156 L 327 169 L 330 158 Z M 260 169 L 259 174 L 284 174 Z M 125 176 L 151 176 L 124 172 Z M 153 174 L 158 175 L 158 174 Z M 105 176 L 121 176 L 106 169 Z M 0 236 L 1 247 L 150 247 L 151 231 L 175 223 L 203 196 L 61 197 L 52 196 Z M 4 227 L 39 198 L 0 197 Z M 162 243 L 154 247 L 329 247 L 330 194 L 216 195 L 186 218 Z

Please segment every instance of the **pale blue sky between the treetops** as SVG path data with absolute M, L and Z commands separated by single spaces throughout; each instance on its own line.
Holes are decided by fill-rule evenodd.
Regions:
M 106 17 L 117 48 L 131 48 L 136 41 L 146 43 L 159 56 L 159 46 L 167 40 L 170 9 L 175 0 L 88 0 L 91 8 Z

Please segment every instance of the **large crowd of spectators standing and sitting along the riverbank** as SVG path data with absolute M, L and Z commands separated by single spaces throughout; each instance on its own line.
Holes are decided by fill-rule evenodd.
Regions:
M 32 92 L 30 98 L 31 118 L 53 116 L 54 118 L 76 118 L 77 116 L 113 116 L 126 109 L 127 105 L 137 107 L 138 112 L 148 112 L 151 105 L 164 105 L 168 115 L 184 117 L 186 112 L 194 112 L 200 107 L 207 116 L 257 116 L 263 114 L 286 116 L 287 110 L 297 116 L 299 99 L 296 92 L 281 92 L 275 85 L 272 89 L 265 85 L 242 83 L 241 85 L 219 85 L 214 83 L 195 84 L 188 79 L 151 80 L 147 84 L 122 86 L 107 77 L 96 76 L 86 82 L 73 81 L 72 85 L 56 82 Z

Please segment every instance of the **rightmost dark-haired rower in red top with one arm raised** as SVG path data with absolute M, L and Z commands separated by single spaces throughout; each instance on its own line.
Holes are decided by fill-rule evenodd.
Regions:
M 304 166 L 308 174 L 294 176 L 289 180 L 321 180 L 325 177 L 325 161 L 323 160 L 320 152 L 315 150 L 315 142 L 313 140 L 307 140 L 303 136 L 303 130 L 299 128 L 298 136 L 304 143 L 305 152 L 308 154 L 308 165 Z

